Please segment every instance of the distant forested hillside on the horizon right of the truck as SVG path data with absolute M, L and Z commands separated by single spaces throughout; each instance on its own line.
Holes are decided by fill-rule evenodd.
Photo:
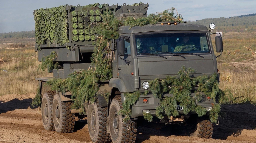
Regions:
M 214 23 L 217 26 L 245 26 L 247 28 L 250 25 L 256 25 L 256 14 L 241 15 L 229 18 L 206 18 L 196 21 L 188 21 L 188 23 L 201 24 L 209 26 L 210 23 Z

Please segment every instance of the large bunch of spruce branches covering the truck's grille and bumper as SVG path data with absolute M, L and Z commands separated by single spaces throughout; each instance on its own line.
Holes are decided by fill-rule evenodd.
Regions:
M 155 98 L 160 99 L 160 105 L 156 108 L 156 117 L 163 119 L 164 116 L 178 116 L 179 112 L 176 107 L 184 107 L 184 114 L 189 112 L 196 112 L 199 117 L 207 114 L 204 107 L 197 105 L 196 101 L 201 101 L 203 94 L 207 95 L 215 101 L 222 100 L 225 97 L 224 92 L 218 88 L 217 74 L 213 74 L 210 77 L 207 75 L 193 77 L 191 73 L 195 73 L 192 68 L 186 69 L 185 66 L 178 72 L 178 76 L 170 77 L 166 76 L 166 79 L 155 79 L 150 82 L 150 90 Z M 191 96 L 194 88 L 195 97 Z M 164 97 L 164 93 L 172 94 L 173 97 Z M 212 110 L 208 112 L 210 120 L 217 123 L 220 113 L 220 105 L 213 104 Z M 148 115 L 145 115 L 145 119 L 148 119 Z M 150 120 L 148 120 L 150 121 Z

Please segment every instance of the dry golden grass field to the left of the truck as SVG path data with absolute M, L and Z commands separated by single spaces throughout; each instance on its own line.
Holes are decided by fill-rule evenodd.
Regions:
M 51 76 L 52 73 L 38 69 L 35 39 L 0 40 L 0 95 L 35 93 L 36 77 Z

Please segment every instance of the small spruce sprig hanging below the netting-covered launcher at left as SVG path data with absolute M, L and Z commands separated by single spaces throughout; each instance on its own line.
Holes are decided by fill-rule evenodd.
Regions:
M 50 72 L 52 69 L 57 69 L 58 68 L 58 62 L 55 62 L 54 60 L 57 59 L 57 54 L 55 51 L 52 51 L 51 54 L 47 55 L 46 57 L 42 57 L 41 61 L 42 63 L 39 64 L 39 68 L 44 71 L 46 68 L 48 68 L 48 72 Z M 39 69 L 38 68 L 38 69 Z

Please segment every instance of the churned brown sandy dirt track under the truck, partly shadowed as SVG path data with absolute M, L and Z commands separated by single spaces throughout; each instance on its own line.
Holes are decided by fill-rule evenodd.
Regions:
M 87 120 L 76 119 L 73 133 L 46 131 L 42 126 L 38 108 L 32 108 L 30 95 L 9 94 L 0 96 L 0 143 L 9 142 L 91 142 Z M 256 107 L 251 104 L 224 105 L 225 118 L 220 125 L 215 125 L 213 139 L 188 137 L 182 128 L 163 132 L 145 127 L 138 127 L 138 143 L 231 143 L 256 142 Z

